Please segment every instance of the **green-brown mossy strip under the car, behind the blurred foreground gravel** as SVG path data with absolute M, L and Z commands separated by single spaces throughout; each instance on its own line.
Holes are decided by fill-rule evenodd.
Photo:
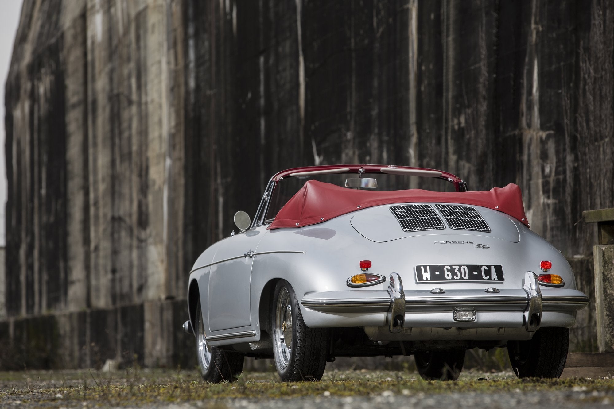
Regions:
M 27 376 L 27 378 L 24 378 Z M 456 382 L 423 381 L 416 373 L 395 371 L 332 371 L 320 382 L 280 382 L 274 373 L 243 373 L 236 383 L 207 384 L 193 371 L 125 371 L 99 373 L 0 372 L 3 403 L 49 406 L 141 406 L 153 402 L 215 402 L 220 399 L 446 394 L 451 392 L 614 391 L 613 379 L 518 380 L 511 373 L 463 373 Z

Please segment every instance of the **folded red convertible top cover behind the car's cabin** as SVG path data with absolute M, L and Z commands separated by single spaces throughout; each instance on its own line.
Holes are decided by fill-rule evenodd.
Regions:
M 303 227 L 324 222 L 356 210 L 392 203 L 461 203 L 482 206 L 509 214 L 527 226 L 523 195 L 518 185 L 495 187 L 481 192 L 431 192 L 408 189 L 355 190 L 319 181 L 307 181 L 282 207 L 268 228 Z

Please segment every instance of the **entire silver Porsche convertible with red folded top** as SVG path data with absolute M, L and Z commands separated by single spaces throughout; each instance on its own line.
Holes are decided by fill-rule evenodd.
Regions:
M 429 177 L 433 190 L 410 189 Z M 438 185 L 439 184 L 439 185 Z M 271 177 L 251 220 L 198 257 L 189 319 L 204 380 L 273 357 L 284 381 L 338 356 L 413 355 L 455 380 L 470 348 L 507 347 L 519 377 L 556 378 L 589 298 L 533 233 L 520 189 L 468 192 L 453 174 L 309 166 Z

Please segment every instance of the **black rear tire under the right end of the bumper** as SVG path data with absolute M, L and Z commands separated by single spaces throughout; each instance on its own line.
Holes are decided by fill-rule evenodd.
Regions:
M 569 328 L 543 327 L 528 341 L 508 341 L 507 353 L 518 378 L 559 378 L 565 368 Z

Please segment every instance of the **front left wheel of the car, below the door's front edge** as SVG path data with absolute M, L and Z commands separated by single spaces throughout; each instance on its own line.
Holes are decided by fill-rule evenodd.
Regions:
M 243 372 L 243 360 L 241 353 L 224 351 L 216 346 L 211 347 L 204 340 L 203 314 L 200 302 L 196 306 L 196 356 L 198 367 L 203 380 L 211 383 L 223 381 L 234 382 Z

